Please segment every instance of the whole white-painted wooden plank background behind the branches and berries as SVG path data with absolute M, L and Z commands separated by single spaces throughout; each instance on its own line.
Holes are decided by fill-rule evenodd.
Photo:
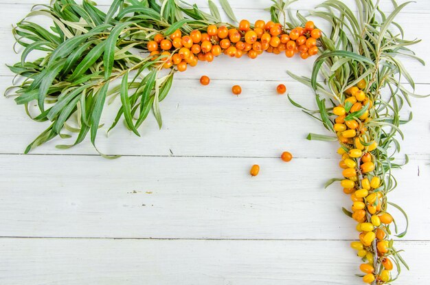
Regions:
M 0 1 L 2 91 L 12 80 L 4 64 L 19 58 L 11 24 L 32 4 L 47 2 Z M 269 18 L 262 10 L 269 0 L 230 3 L 238 18 Z M 383 10 L 389 3 L 381 0 Z M 398 16 L 409 38 L 422 38 L 415 49 L 427 62 L 429 19 L 427 0 Z M 354 277 L 359 258 L 349 248 L 357 232 L 341 213 L 350 201 L 337 185 L 323 189 L 339 176 L 336 144 L 307 141 L 309 132 L 324 133 L 320 124 L 275 94 L 284 83 L 292 98 L 315 108 L 313 92 L 285 72 L 308 75 L 312 61 L 221 57 L 177 74 L 161 104 L 161 130 L 151 117 L 142 138 L 122 126 L 109 139 L 99 135 L 100 150 L 124 155 L 114 161 L 95 155 L 88 141 L 57 150 L 65 141 L 56 140 L 22 155 L 47 125 L 2 97 L 0 284 L 361 284 Z M 429 68 L 405 65 L 418 93 L 429 93 Z M 199 84 L 203 74 L 212 79 L 209 87 Z M 230 92 L 234 84 L 243 89 L 238 98 Z M 391 195 L 411 220 L 409 234 L 397 242 L 411 271 L 397 284 L 427 285 L 430 99 L 413 103 L 414 121 L 404 126 L 402 142 L 411 160 L 396 171 Z M 107 110 L 109 123 L 116 109 Z M 284 150 L 295 156 L 291 163 L 278 159 Z M 251 179 L 253 163 L 262 170 Z

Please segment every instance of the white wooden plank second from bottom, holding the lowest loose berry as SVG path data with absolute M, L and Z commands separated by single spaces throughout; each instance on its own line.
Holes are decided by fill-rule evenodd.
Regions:
M 249 168 L 261 167 L 251 178 Z M 0 156 L 2 236 L 354 239 L 338 159 Z M 427 240 L 429 160 L 394 171 L 408 240 Z M 418 176 L 419 175 L 419 176 Z M 415 198 L 414 198 L 415 197 Z M 416 198 L 420 197 L 420 198 Z M 403 228 L 402 215 L 395 211 Z

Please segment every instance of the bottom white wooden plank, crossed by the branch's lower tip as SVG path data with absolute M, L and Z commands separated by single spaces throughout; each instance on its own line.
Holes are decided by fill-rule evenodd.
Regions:
M 427 285 L 430 242 L 401 242 Z M 36 284 L 361 284 L 348 241 L 0 239 L 0 282 Z

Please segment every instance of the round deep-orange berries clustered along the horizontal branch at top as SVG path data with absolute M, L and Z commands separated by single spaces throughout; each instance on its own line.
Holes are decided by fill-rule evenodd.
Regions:
M 264 51 L 284 52 L 288 58 L 299 53 L 306 59 L 318 53 L 317 40 L 320 37 L 321 31 L 312 21 L 287 33 L 280 23 L 258 20 L 251 27 L 249 21 L 242 20 L 238 28 L 209 25 L 203 33 L 193 30 L 182 35 L 181 30 L 177 30 L 168 38 L 156 34 L 146 47 L 152 58 L 163 56 L 164 68 L 176 66 L 179 71 L 185 71 L 188 65 L 194 67 L 199 61 L 212 62 L 220 54 L 257 58 Z

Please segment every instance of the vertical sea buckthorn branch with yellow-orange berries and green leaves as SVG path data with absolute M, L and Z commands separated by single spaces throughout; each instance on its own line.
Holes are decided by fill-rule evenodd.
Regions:
M 422 97 L 407 91 L 401 83 L 407 80 L 415 88 L 399 57 L 416 58 L 407 46 L 418 43 L 405 40 L 400 25 L 394 23 L 405 5 L 394 2 L 394 11 L 386 16 L 371 0 L 357 1 L 357 17 L 341 1 L 322 3 L 320 7 L 326 10 L 311 14 L 328 21 L 332 31 L 321 38 L 322 54 L 315 62 L 313 76 L 302 78 L 290 73 L 315 89 L 320 115 L 317 119 L 336 135 L 310 134 L 308 139 L 336 139 L 341 144 L 338 153 L 343 178 L 331 179 L 327 185 L 340 181 L 343 192 L 351 196 L 351 211 L 343 208 L 343 212 L 357 221 L 360 232 L 359 241 L 352 242 L 351 247 L 363 260 L 360 266 L 363 281 L 377 285 L 396 280 L 401 265 L 408 269 L 393 247 L 390 225 L 394 225 L 395 233 L 398 230 L 387 212 L 387 206 L 391 205 L 408 222 L 403 209 L 389 202 L 387 194 L 396 188 L 392 169 L 401 167 L 394 163 L 400 150 L 397 137 L 403 138 L 400 125 L 412 118 L 409 115 L 409 119 L 400 119 L 400 110 L 405 102 L 410 105 L 409 97 Z M 324 84 L 317 82 L 318 74 L 323 75 Z M 318 94 L 328 97 L 332 106 L 326 106 Z M 315 117 L 308 109 L 304 111 Z M 396 237 L 402 238 L 406 232 L 407 225 Z M 396 277 L 391 274 L 394 266 Z

